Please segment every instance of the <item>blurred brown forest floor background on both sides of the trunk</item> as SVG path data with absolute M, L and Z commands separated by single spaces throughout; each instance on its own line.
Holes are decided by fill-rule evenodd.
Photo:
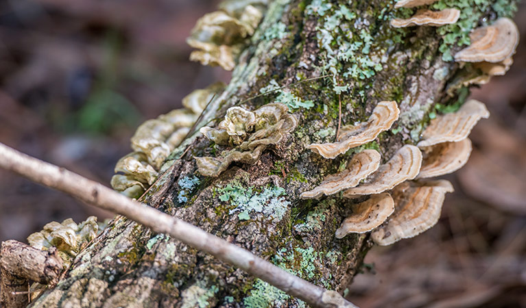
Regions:
M 230 73 L 185 43 L 217 0 L 1 0 L 0 142 L 109 185 L 147 118 Z M 374 247 L 347 294 L 367 307 L 526 307 L 526 3 L 507 75 L 474 89 L 492 116 L 468 164 L 446 177 L 433 229 Z M 110 214 L 0 170 L 0 240 L 51 220 Z

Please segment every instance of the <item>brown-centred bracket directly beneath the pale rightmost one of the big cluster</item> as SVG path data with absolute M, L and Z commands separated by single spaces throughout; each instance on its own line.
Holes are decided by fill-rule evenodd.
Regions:
M 459 170 L 468 162 L 471 140 L 466 138 L 459 142 L 442 142 L 422 147 L 421 150 L 422 168 L 417 178 L 439 177 Z

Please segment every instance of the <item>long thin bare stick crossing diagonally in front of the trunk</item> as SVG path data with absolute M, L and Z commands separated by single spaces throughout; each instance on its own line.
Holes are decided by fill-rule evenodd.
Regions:
M 166 233 L 222 261 L 267 281 L 312 307 L 355 308 L 335 291 L 325 290 L 274 266 L 249 251 L 206 233 L 178 218 L 106 188 L 74 172 L 30 157 L 0 143 L 0 166 L 50 188 L 61 190 L 80 200 L 121 214 L 157 233 Z

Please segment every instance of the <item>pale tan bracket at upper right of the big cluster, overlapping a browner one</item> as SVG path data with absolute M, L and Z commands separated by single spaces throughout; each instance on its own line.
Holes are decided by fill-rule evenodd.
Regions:
M 490 112 L 486 105 L 475 99 L 466 101 L 457 112 L 443 114 L 431 120 L 422 133 L 418 146 L 431 146 L 442 142 L 457 142 L 468 138 L 471 129 L 481 118 L 488 118 Z

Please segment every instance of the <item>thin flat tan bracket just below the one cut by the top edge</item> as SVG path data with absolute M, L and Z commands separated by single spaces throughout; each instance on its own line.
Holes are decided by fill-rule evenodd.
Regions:
M 391 25 L 395 28 L 411 27 L 416 25 L 440 27 L 442 25 L 456 23 L 459 16 L 460 11 L 457 9 L 444 9 L 442 11 L 419 10 L 416 12 L 416 14 L 411 16 L 411 18 L 393 19 L 391 21 Z

